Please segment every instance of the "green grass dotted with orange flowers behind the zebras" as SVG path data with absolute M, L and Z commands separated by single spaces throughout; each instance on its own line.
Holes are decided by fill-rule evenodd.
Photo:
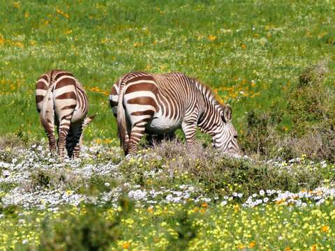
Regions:
M 98 112 L 91 140 L 116 136 L 106 93 L 130 71 L 201 79 L 244 130 L 245 112 L 285 105 L 285 89 L 306 66 L 334 59 L 334 1 L 1 1 L 0 16 L 0 135 L 21 127 L 43 137 L 34 83 L 52 68 L 87 87 Z

